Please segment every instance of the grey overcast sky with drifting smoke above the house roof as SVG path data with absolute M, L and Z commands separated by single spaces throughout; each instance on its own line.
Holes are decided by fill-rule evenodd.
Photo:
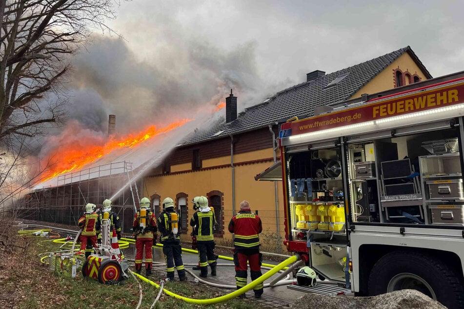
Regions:
M 239 110 L 305 81 L 411 46 L 433 77 L 464 70 L 463 1 L 122 1 L 74 59 L 70 118 L 106 130 Z

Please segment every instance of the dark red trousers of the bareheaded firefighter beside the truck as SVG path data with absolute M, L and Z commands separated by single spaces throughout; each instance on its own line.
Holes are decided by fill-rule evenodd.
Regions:
M 235 282 L 237 284 L 237 290 L 246 286 L 247 274 L 247 262 L 250 264 L 250 277 L 251 280 L 256 280 L 261 277 L 261 258 L 260 253 L 253 253 L 247 251 L 239 251 L 234 253 L 234 264 L 235 264 Z M 253 288 L 255 296 L 261 296 L 263 285 L 260 283 Z

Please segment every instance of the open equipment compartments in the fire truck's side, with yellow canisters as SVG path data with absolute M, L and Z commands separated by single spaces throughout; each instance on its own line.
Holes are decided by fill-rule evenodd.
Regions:
M 464 226 L 461 136 L 450 123 L 285 147 L 288 240 L 307 243 L 310 267 L 346 282 L 347 222 Z

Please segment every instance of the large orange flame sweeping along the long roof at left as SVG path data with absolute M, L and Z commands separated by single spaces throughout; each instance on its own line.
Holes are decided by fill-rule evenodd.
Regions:
M 69 141 L 69 139 L 64 137 L 62 140 L 67 141 L 70 145 L 62 145 L 61 141 L 59 141 L 60 147 L 57 147 L 50 153 L 51 159 L 47 162 L 48 167 L 45 174 L 42 173 L 40 182 L 73 170 L 79 170 L 86 164 L 92 163 L 117 149 L 124 147 L 132 148 L 153 136 L 181 127 L 189 121 L 192 121 L 192 119 L 182 119 L 160 129 L 155 125 L 151 125 L 137 134 L 129 134 L 122 137 L 112 136 L 106 141 L 99 140 L 98 138 L 92 139 L 91 137 L 89 138 L 90 140 L 81 138 L 78 141 Z

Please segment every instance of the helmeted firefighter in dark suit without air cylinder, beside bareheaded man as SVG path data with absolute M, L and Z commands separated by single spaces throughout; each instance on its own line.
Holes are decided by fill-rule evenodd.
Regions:
M 216 258 L 214 254 L 214 227 L 216 217 L 208 206 L 208 198 L 200 196 L 197 200 L 198 212 L 193 214 L 190 225 L 196 227 L 198 253 L 200 255 L 200 277 L 208 275 L 208 264 L 211 267 L 211 275 L 216 276 Z

